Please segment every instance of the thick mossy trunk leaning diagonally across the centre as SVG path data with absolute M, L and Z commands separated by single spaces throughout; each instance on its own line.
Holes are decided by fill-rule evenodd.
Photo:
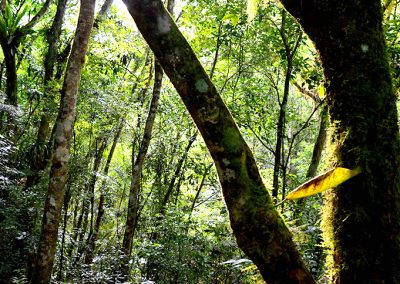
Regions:
M 215 161 L 239 246 L 268 283 L 314 283 L 231 114 L 161 1 L 125 0 Z

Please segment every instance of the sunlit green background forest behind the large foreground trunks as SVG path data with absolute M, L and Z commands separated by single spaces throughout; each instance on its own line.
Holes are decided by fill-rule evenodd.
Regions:
M 98 3 L 99 10 L 109 2 Z M 20 4 L 9 2 L 13 13 Z M 26 12 L 30 19 L 45 4 L 31 3 Z M 176 4 L 179 28 L 206 73 L 212 74 L 271 193 L 274 168 L 278 169 L 275 197 L 282 200 L 289 189 L 307 179 L 310 165 L 315 166 L 312 155 L 318 133 L 324 133 L 320 126 L 324 105 L 319 100 L 324 98 L 326 86 L 312 43 L 305 35 L 299 37 L 299 26 L 272 1 L 261 3 L 251 23 L 242 1 Z M 67 2 L 59 36 L 49 33 L 62 5 L 63 1 L 49 4 L 48 12 L 16 50 L 19 109 L 12 108 L 11 113 L 18 135 L 11 137 L 8 133 L 14 129 L 10 127 L 3 127 L 0 133 L 0 279 L 4 282 L 26 277 L 35 262 L 33 252 L 49 183 L 52 129 L 78 12 L 76 2 Z M 118 6 L 121 3 L 97 17 L 102 20 L 96 21 L 82 70 L 53 266 L 52 277 L 57 281 L 99 283 L 122 277 L 120 256 L 131 157 L 141 148 L 153 93 L 150 74 L 154 61 L 132 19 Z M 396 1 L 389 6 L 384 31 L 397 90 L 398 9 Z M 22 18 L 21 25 L 28 23 L 28 18 Z M 50 35 L 57 35 L 58 40 L 56 60 L 50 68 L 53 76 L 47 80 L 50 61 L 46 53 L 54 42 Z M 284 38 L 292 49 L 299 40 L 290 74 Z M 0 52 L 1 109 L 9 113 L 4 60 Z M 286 90 L 285 77 L 289 78 Z M 286 111 L 280 116 L 285 93 Z M 280 117 L 284 123 L 278 133 Z M 5 121 L 2 118 L 2 123 Z M 319 171 L 327 167 L 327 159 L 321 161 Z M 261 281 L 254 264 L 236 245 L 218 178 L 210 165 L 204 141 L 174 88 L 164 80 L 139 179 L 137 228 L 129 258 L 131 281 Z M 321 196 L 283 205 L 279 210 L 303 259 L 316 279 L 324 277 Z

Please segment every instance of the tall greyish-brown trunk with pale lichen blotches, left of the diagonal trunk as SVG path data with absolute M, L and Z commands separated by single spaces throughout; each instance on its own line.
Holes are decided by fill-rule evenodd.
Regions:
M 93 25 L 95 0 L 82 0 L 71 56 L 61 91 L 50 171 L 50 184 L 44 205 L 42 233 L 37 253 L 34 283 L 49 283 L 57 243 L 58 223 L 68 177 L 69 149 L 75 120 L 80 75 Z

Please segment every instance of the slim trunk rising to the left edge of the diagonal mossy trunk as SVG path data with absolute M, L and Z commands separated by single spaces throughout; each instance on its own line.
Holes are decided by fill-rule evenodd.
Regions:
M 154 120 L 156 117 L 156 111 L 158 108 L 158 101 L 160 98 L 163 71 L 160 64 L 155 62 L 154 70 L 154 86 L 153 86 L 153 96 L 150 103 L 149 113 L 147 115 L 145 129 L 142 137 L 142 142 L 140 144 L 139 153 L 136 160 L 132 160 L 132 177 L 131 177 L 131 187 L 129 191 L 129 203 L 128 203 L 128 215 L 125 223 L 125 233 L 122 242 L 122 250 L 125 254 L 122 263 L 122 271 L 125 277 L 129 275 L 128 260 L 132 250 L 132 240 L 135 233 L 135 228 L 137 224 L 137 216 L 139 210 L 139 192 L 140 192 L 140 176 L 144 164 L 145 157 L 147 155 L 147 150 L 150 145 L 151 135 L 153 131 Z

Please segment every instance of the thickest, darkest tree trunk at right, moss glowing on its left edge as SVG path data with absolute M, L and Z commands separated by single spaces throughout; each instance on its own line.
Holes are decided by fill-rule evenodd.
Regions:
M 320 53 L 333 163 L 363 172 L 325 200 L 332 281 L 400 283 L 400 143 L 381 3 L 282 2 Z

